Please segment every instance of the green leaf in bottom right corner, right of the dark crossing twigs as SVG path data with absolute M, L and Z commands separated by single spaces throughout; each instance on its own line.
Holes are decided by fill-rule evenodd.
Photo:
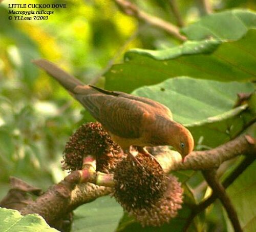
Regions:
M 254 161 L 231 186 L 227 193 L 236 209 L 244 232 L 256 230 L 256 162 Z

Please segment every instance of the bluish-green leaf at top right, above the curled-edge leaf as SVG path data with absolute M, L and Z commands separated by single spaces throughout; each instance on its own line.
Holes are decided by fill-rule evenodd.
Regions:
M 237 40 L 256 27 L 256 14 L 250 10 L 230 10 L 210 14 L 181 30 L 190 40 L 216 38 Z

